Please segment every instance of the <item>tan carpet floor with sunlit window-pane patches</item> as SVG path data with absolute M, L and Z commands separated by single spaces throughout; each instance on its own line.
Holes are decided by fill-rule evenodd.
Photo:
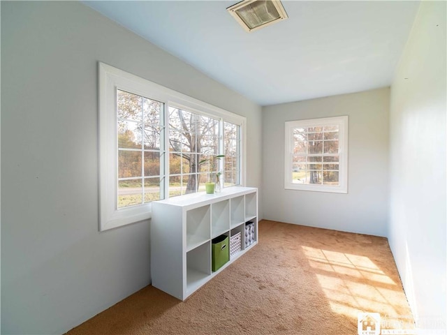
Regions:
M 359 312 L 412 327 L 385 238 L 261 221 L 259 244 L 186 301 L 149 285 L 67 334 L 356 335 Z

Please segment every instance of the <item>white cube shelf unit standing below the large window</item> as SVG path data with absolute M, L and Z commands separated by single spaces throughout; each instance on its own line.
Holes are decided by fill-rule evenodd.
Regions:
M 245 247 L 247 221 L 255 223 L 255 241 Z M 237 232 L 242 236 L 241 251 L 211 271 L 211 240 Z M 152 285 L 184 300 L 257 243 L 257 188 L 233 186 L 221 193 L 192 193 L 152 202 Z

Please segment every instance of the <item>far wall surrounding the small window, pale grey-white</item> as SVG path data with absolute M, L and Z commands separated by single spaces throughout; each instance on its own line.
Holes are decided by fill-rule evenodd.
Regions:
M 264 218 L 386 235 L 389 89 L 263 107 Z M 284 189 L 284 122 L 349 116 L 348 194 Z

